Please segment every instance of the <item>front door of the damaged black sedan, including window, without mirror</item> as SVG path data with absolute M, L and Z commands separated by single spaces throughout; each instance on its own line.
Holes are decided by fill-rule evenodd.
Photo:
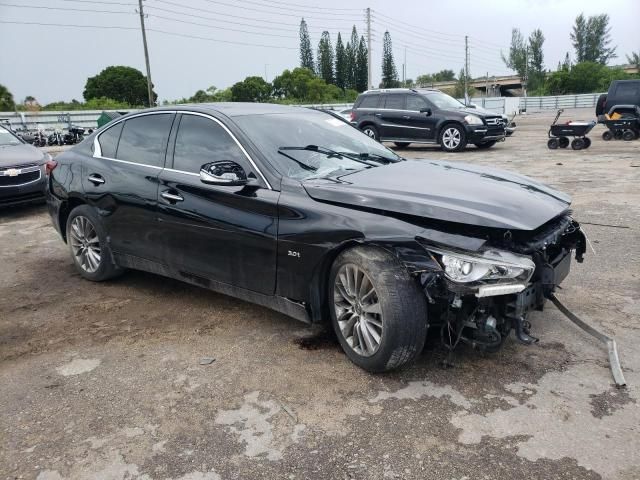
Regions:
M 180 115 L 172 168 L 160 174 L 158 205 L 166 262 L 178 275 L 264 294 L 275 292 L 279 192 L 271 190 L 229 130 L 203 114 Z M 231 160 L 251 182 L 200 181 L 202 165 Z

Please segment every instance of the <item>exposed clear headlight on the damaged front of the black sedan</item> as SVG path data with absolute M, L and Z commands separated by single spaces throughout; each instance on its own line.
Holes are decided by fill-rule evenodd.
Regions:
M 536 268 L 531 258 L 502 250 L 486 250 L 477 254 L 429 250 L 439 255 L 445 276 L 457 283 L 526 285 Z

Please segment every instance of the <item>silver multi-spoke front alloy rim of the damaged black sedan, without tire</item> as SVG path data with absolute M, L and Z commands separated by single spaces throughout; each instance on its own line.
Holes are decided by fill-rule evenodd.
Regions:
M 370 357 L 380 348 L 382 307 L 367 274 L 354 264 L 343 265 L 333 287 L 333 304 L 340 333 L 358 355 Z

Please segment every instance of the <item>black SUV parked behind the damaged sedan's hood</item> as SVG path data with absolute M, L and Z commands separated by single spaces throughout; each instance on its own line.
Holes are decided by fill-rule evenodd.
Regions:
M 351 123 L 381 142 L 398 147 L 438 144 L 447 152 L 460 151 L 468 143 L 490 148 L 506 136 L 501 115 L 467 107 L 434 89 L 364 92 L 354 104 Z

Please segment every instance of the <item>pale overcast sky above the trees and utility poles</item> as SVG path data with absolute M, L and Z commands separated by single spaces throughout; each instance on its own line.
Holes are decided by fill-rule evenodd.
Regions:
M 331 33 L 334 46 L 338 32 L 346 43 L 353 24 L 365 33 L 367 7 L 373 12 L 374 84 L 380 81 L 386 29 L 400 76 L 406 47 L 407 78 L 443 68 L 459 72 L 465 35 L 474 77 L 509 73 L 500 49 L 508 49 L 513 27 L 525 36 L 542 29 L 545 66 L 555 69 L 567 51 L 573 56 L 569 32 L 580 12 L 609 14 L 618 46 L 612 63 L 626 63 L 625 54 L 640 51 L 640 0 L 145 0 L 144 5 L 152 30 L 147 33 L 151 76 L 160 100 L 188 97 L 211 85 L 228 87 L 265 72 L 271 81 L 299 64 L 301 17 L 309 25 L 315 53 L 322 30 Z M 136 0 L 0 0 L 0 22 L 88 26 L 0 23 L 0 84 L 16 101 L 33 95 L 44 104 L 82 100 L 86 79 L 109 65 L 144 72 L 136 6 Z

